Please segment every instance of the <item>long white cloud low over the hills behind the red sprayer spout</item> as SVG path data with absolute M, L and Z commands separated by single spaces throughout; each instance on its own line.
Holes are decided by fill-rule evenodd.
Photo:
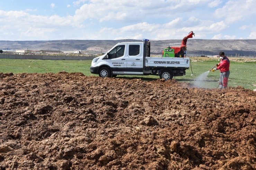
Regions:
M 197 24 L 194 25 L 192 21 Z M 190 23 L 191 22 L 191 23 Z M 188 24 L 190 23 L 190 24 Z M 98 35 L 116 36 L 115 39 L 135 37 L 141 35 L 143 38 L 151 40 L 167 40 L 167 39 L 182 39 L 188 35 L 190 31 L 194 31 L 196 38 L 204 38 L 208 34 L 220 32 L 229 26 L 223 21 L 212 22 L 200 20 L 195 17 L 190 17 L 188 20 L 183 21 L 183 18 L 175 18 L 165 24 L 155 24 L 148 22 L 141 22 L 137 24 L 127 25 L 120 28 L 102 28 Z M 213 39 L 234 39 L 234 36 L 214 36 Z

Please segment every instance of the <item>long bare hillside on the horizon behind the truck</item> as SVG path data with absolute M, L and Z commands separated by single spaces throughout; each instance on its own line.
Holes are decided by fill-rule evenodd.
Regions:
M 52 40 L 52 41 L 0 41 L 0 50 L 60 50 L 105 53 L 118 42 L 141 40 Z M 150 40 L 151 53 L 161 54 L 168 46 L 180 46 L 181 40 Z M 224 51 L 227 55 L 256 55 L 256 40 L 202 40 L 189 39 L 188 54 L 216 55 Z

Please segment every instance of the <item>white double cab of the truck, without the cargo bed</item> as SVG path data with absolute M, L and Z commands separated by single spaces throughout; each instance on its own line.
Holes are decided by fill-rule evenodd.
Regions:
M 121 74 L 143 75 L 143 51 L 144 42 L 118 43 L 106 54 L 93 59 L 90 71 L 94 74 L 102 72 L 101 77 L 111 77 L 110 74 L 106 75 L 108 70 L 111 70 L 114 76 Z M 105 68 L 102 70 L 101 67 Z

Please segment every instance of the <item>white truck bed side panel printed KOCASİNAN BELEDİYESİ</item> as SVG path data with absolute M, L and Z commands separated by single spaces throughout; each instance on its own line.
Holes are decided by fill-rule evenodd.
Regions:
M 189 68 L 189 58 L 145 57 L 146 67 L 185 67 Z

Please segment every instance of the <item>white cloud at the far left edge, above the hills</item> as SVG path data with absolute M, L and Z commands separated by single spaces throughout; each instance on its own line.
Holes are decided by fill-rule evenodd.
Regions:
M 80 23 L 75 23 L 71 16 L 60 17 L 58 15 L 43 16 L 30 15 L 24 11 L 2 11 L 0 10 L 0 33 L 13 35 L 14 40 L 49 40 L 60 39 L 60 32 L 70 31 L 72 28 L 81 28 Z M 22 26 L 21 26 L 22 25 Z

